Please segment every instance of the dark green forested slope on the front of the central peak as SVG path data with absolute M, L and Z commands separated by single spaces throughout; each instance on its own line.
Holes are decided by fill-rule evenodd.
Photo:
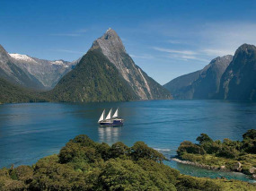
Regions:
M 137 96 L 100 50 L 89 50 L 75 69 L 47 93 L 53 101 L 119 101 Z

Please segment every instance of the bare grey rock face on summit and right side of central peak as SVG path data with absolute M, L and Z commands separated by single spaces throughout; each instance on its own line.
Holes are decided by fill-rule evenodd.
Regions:
M 94 49 L 100 49 L 116 66 L 119 74 L 128 82 L 140 100 L 171 98 L 168 91 L 135 65 L 115 30 L 109 29 L 101 38 L 96 39 L 91 50 Z

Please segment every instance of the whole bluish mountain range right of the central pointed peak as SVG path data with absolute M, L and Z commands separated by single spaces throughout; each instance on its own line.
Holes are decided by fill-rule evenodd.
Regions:
M 164 87 L 174 99 L 256 100 L 256 47 L 243 44 L 234 56 L 216 57 L 204 69 Z

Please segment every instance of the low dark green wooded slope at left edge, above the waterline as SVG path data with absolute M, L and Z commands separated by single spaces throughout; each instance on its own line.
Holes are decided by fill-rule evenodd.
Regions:
M 39 93 L 28 91 L 0 78 L 0 104 L 46 101 Z

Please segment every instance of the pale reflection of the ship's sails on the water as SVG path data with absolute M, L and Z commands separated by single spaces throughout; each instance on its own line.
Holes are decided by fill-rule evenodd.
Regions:
M 99 126 L 99 141 L 100 143 L 116 143 L 119 141 L 122 126 Z

